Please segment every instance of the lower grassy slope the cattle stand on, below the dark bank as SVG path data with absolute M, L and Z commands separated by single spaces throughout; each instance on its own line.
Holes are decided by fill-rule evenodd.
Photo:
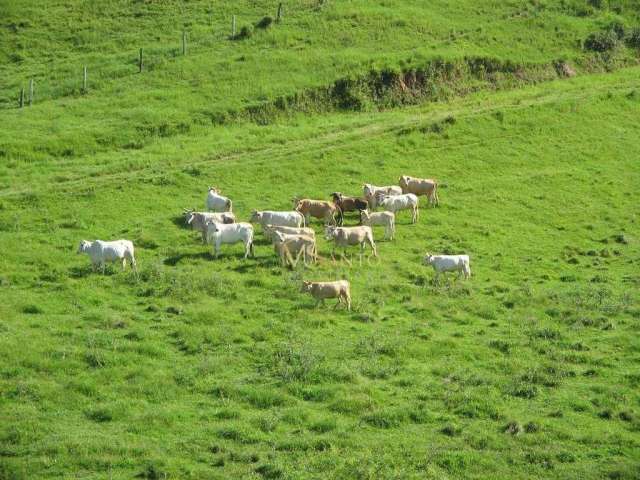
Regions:
M 638 72 L 15 171 L 3 478 L 636 478 Z M 362 266 L 324 240 L 308 270 L 262 241 L 213 260 L 180 225 L 209 183 L 246 218 L 404 172 L 442 206 Z M 91 273 L 85 237 L 133 239 L 140 279 Z M 434 286 L 426 250 L 472 280 Z M 352 313 L 298 292 L 333 278 Z

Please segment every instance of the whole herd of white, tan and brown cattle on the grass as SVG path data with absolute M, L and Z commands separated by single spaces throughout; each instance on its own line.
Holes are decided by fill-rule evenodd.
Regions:
M 264 237 L 272 242 L 281 264 L 295 267 L 300 259 L 305 264 L 318 260 L 315 231 L 309 227 L 313 217 L 323 222 L 325 238 L 333 242 L 332 258 L 335 259 L 335 251 L 338 248 L 342 249 L 342 258 L 346 258 L 348 247 L 360 246 L 362 261 L 366 245 L 371 248 L 375 257 L 378 255 L 373 238 L 374 225 L 384 227 L 384 238 L 393 240 L 398 212 L 409 210 L 412 222 L 416 223 L 420 196 L 426 197 L 430 205 L 439 204 L 438 184 L 435 180 L 403 175 L 398 183 L 397 186 L 384 187 L 365 184 L 363 197 L 349 197 L 341 192 L 334 192 L 331 201 L 295 198 L 293 210 L 254 210 L 248 223 L 237 222 L 231 199 L 223 196 L 218 189 L 209 187 L 206 198 L 207 211 L 185 211 L 185 221 L 201 233 L 203 243 L 213 246 L 216 258 L 222 245 L 235 243 L 244 245 L 244 258 L 253 256 L 253 224 L 260 224 Z M 383 211 L 376 212 L 378 207 Z M 350 212 L 359 214 L 359 225 L 344 226 L 344 215 Z M 107 262 L 120 262 L 123 270 L 129 262 L 131 267 L 137 270 L 133 243 L 129 240 L 82 240 L 78 253 L 89 255 L 94 270 L 101 268 L 104 272 Z M 436 282 L 444 272 L 457 271 L 459 275 L 464 275 L 464 278 L 471 275 L 468 255 L 427 253 L 424 263 L 431 265 L 435 270 Z M 337 298 L 336 306 L 344 302 L 347 309 L 351 309 L 350 285 L 346 280 L 303 282 L 302 291 L 310 293 L 318 303 L 324 302 L 327 298 Z

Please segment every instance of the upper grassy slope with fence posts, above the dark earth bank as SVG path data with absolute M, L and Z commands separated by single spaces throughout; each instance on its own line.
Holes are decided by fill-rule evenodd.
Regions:
M 424 67 L 433 58 L 514 65 L 565 59 L 579 72 L 635 62 L 625 42 L 594 56 L 593 32 L 638 27 L 632 1 L 3 2 L 0 6 L 0 158 L 40 162 L 136 150 L 158 137 L 225 123 L 230 112 L 325 88 L 371 70 Z M 594 5 L 598 2 L 591 2 Z M 187 55 L 181 36 L 188 35 Z M 137 73 L 139 48 L 145 71 Z M 82 95 L 82 67 L 89 92 Z M 526 78 L 526 72 L 523 73 Z M 35 80 L 35 105 L 15 109 Z M 460 86 L 473 89 L 465 80 Z

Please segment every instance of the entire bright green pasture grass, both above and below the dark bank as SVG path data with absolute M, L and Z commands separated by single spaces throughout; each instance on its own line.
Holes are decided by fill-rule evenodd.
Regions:
M 0 478 L 640 475 L 640 70 L 587 74 L 632 63 L 631 33 L 614 59 L 576 45 L 616 20 L 632 32 L 631 2 L 299 2 L 243 40 L 226 39 L 227 17 L 238 10 L 240 31 L 274 4 L 207 17 L 188 2 L 191 36 L 210 22 L 217 37 L 119 81 L 120 47 L 135 69 L 144 32 L 158 59 L 179 48 L 178 7 L 69 7 L 104 29 L 74 44 L 62 7 L 26 3 L 3 5 L 28 25 L 4 25 L 3 54 L 22 59 L 3 61 L 0 81 L 90 58 L 114 71 L 85 97 L 61 85 L 0 112 Z M 366 78 L 370 59 L 397 72 L 424 54 L 422 68 L 428 39 L 445 63 L 500 71 L 462 75 L 465 91 L 448 79 L 446 102 L 389 108 L 365 89 L 357 111 L 197 115 Z M 526 85 L 557 77 L 561 57 L 578 77 Z M 531 77 L 507 67 L 524 64 Z M 260 236 L 256 259 L 237 245 L 214 261 L 181 225 L 209 184 L 246 219 L 402 173 L 440 179 L 441 206 L 415 226 L 400 214 L 397 239 L 362 266 L 332 264 L 321 240 L 319 266 L 283 270 Z M 75 255 L 82 238 L 120 237 L 137 246 L 139 278 L 93 274 Z M 468 252 L 472 279 L 434 286 L 426 250 Z M 302 279 L 338 278 L 352 313 L 298 293 Z

